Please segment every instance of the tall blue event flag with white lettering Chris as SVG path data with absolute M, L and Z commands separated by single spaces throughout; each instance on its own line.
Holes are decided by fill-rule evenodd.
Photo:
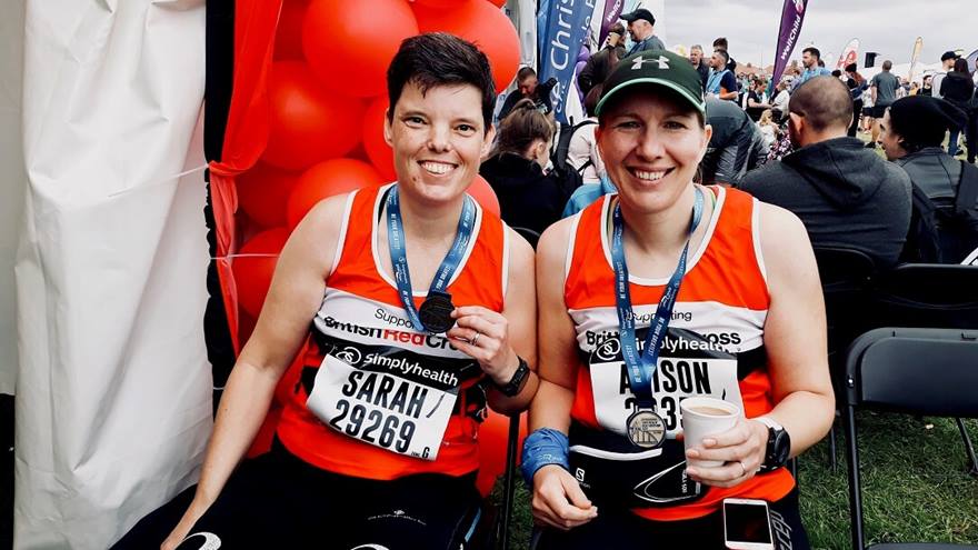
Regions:
M 540 52 L 539 80 L 557 79 L 550 92 L 557 121 L 570 122 L 565 107 L 573 83 L 573 68 L 581 44 L 588 38 L 595 0 L 543 0 L 537 16 L 537 46 Z

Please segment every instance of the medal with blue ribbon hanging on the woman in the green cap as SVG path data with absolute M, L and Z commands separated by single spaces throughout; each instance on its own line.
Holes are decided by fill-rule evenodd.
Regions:
M 703 197 L 702 190 L 697 187 L 696 200 L 692 206 L 692 220 L 689 223 L 689 232 L 682 253 L 679 256 L 679 264 L 669 278 L 656 316 L 649 326 L 646 336 L 645 349 L 641 353 L 636 346 L 635 313 L 631 309 L 631 292 L 628 288 L 628 266 L 625 261 L 625 221 L 621 219 L 621 206 L 616 204 L 611 217 L 611 260 L 615 268 L 615 302 L 618 313 L 618 339 L 621 342 L 621 357 L 628 367 L 631 391 L 635 393 L 636 411 L 628 417 L 626 434 L 632 444 L 646 449 L 653 449 L 666 440 L 666 422 L 656 413 L 656 404 L 652 398 L 652 374 L 659 361 L 659 350 L 666 339 L 669 319 L 672 317 L 672 307 L 676 306 L 676 297 L 679 294 L 679 286 L 682 276 L 686 274 L 686 259 L 689 252 L 689 239 L 702 218 Z

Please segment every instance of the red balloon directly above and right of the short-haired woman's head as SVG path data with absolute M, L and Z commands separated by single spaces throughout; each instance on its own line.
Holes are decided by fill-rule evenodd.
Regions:
M 450 10 L 416 4 L 415 14 L 421 32 L 450 32 L 482 50 L 492 67 L 497 92 L 505 90 L 516 77 L 520 62 L 519 36 L 509 18 L 492 3 L 460 0 Z

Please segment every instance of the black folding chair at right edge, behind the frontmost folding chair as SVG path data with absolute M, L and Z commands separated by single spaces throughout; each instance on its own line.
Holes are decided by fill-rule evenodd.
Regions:
M 905 263 L 878 277 L 869 304 L 876 327 L 927 327 L 978 330 L 978 266 Z M 975 454 L 964 422 L 957 420 L 978 476 Z

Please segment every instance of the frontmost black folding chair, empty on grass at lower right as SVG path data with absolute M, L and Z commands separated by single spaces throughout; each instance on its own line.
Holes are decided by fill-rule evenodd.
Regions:
M 866 548 L 856 408 L 978 418 L 975 388 L 978 388 L 978 331 L 882 328 L 852 342 L 846 356 L 845 430 L 854 549 Z M 942 543 L 874 544 L 872 548 L 978 549 Z

